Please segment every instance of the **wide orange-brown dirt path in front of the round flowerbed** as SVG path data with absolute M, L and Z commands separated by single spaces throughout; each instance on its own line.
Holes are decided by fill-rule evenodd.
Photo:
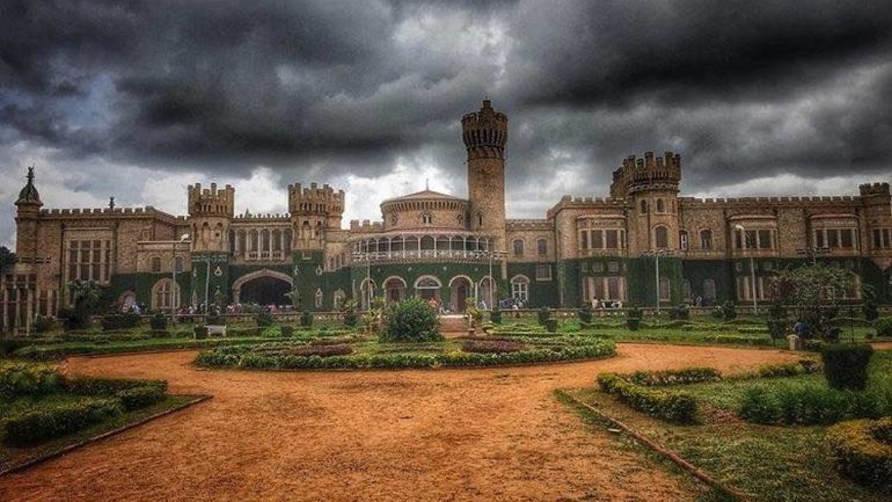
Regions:
M 211 401 L 24 473 L 0 500 L 691 500 L 551 395 L 603 371 L 747 368 L 768 350 L 624 344 L 589 363 L 404 372 L 201 371 L 191 352 L 75 358 Z

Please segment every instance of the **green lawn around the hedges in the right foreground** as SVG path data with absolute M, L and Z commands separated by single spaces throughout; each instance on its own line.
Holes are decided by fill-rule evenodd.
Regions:
M 599 389 L 577 389 L 574 397 L 670 448 L 718 481 L 756 500 L 880 502 L 888 494 L 863 488 L 841 477 L 824 440 L 824 425 L 760 425 L 741 421 L 735 410 L 753 386 L 826 387 L 823 376 L 724 380 L 679 387 L 698 400 L 694 425 L 668 423 L 632 411 Z M 870 389 L 892 387 L 892 353 L 878 352 L 871 360 Z M 816 498 L 816 494 L 821 494 Z

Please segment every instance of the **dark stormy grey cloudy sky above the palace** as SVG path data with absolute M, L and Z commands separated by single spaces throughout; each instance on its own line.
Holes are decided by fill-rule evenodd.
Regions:
M 329 183 L 345 217 L 465 196 L 462 113 L 509 116 L 508 214 L 607 196 L 647 150 L 688 195 L 853 194 L 892 178 L 888 0 L 4 0 L 0 244 L 37 167 L 45 207 L 186 211 L 232 183 L 284 212 Z

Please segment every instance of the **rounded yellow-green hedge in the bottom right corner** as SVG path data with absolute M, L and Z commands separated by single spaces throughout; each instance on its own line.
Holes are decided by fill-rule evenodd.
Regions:
M 837 423 L 827 431 L 827 440 L 841 473 L 892 490 L 892 417 Z

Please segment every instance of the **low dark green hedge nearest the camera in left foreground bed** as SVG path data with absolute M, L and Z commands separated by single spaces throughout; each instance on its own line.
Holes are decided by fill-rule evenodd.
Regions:
M 118 399 L 87 399 L 12 416 L 4 423 L 4 441 L 27 446 L 80 431 L 121 414 Z

